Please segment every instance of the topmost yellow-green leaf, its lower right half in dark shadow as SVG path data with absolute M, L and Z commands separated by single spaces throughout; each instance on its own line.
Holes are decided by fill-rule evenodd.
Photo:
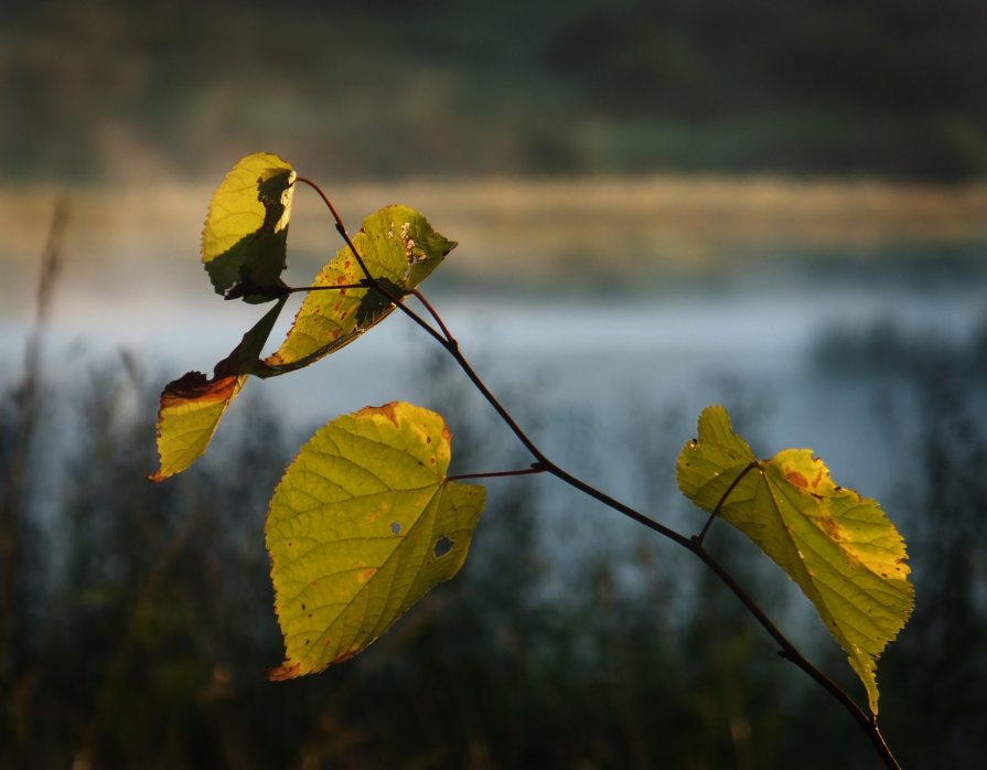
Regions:
M 217 188 L 202 232 L 202 261 L 216 293 L 267 302 L 285 292 L 296 173 L 277 156 L 240 160 Z

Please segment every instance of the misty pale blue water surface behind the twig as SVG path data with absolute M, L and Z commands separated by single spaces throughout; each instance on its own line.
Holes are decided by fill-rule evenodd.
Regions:
M 695 420 L 707 404 L 731 407 L 732 399 L 758 407 L 757 425 L 739 428 L 764 441 L 755 446 L 761 453 L 809 446 L 836 478 L 878 494 L 898 472 L 893 457 L 880 450 L 879 393 L 866 378 L 829 372 L 814 354 L 818 342 L 833 330 L 852 336 L 884 323 L 905 338 L 932 334 L 965 344 L 983 322 L 987 288 L 981 272 L 957 275 L 946 258 L 941 271 L 929 263 L 921 271 L 910 264 L 888 267 L 884 280 L 872 270 L 820 280 L 817 261 L 793 260 L 784 271 L 674 290 L 656 282 L 654 291 L 603 299 L 592 292 L 511 297 L 503 289 L 440 285 L 432 299 L 508 407 L 584 421 L 594 434 L 584 441 L 562 438 L 564 431 L 556 439 L 551 420 L 540 428 L 544 448 L 570 462 L 589 464 L 586 457 L 602 456 L 605 464 L 608 453 L 597 445 L 619 441 L 619 427 L 647 430 L 648 419 L 669 409 Z M 45 333 L 49 382 L 67 389 L 87 370 L 120 365 L 121 351 L 162 385 L 189 370 L 211 371 L 264 309 L 215 297 L 197 269 L 189 280 L 136 282 L 112 292 L 99 282 L 60 286 Z M 286 311 L 271 344 L 291 316 Z M 23 313 L 0 314 L 0 353 L 8 362 L 20 362 L 29 321 Z M 253 381 L 248 391 L 262 394 L 292 429 L 308 430 L 366 405 L 427 403 L 428 366 L 437 350 L 396 313 L 320 364 Z M 19 368 L 6 367 L 4 381 Z M 462 387 L 468 388 L 464 378 Z M 228 416 L 236 418 L 237 404 Z M 454 429 L 455 415 L 448 418 Z M 655 441 L 677 447 L 689 437 Z

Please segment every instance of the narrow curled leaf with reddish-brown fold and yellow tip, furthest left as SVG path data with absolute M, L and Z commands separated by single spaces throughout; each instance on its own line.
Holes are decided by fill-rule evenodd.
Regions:
M 151 481 L 181 473 L 208 448 L 219 420 L 254 372 L 258 356 L 286 298 L 278 300 L 229 355 L 216 364 L 212 379 L 201 372 L 189 372 L 164 386 L 158 409 L 158 454 L 160 467 Z

